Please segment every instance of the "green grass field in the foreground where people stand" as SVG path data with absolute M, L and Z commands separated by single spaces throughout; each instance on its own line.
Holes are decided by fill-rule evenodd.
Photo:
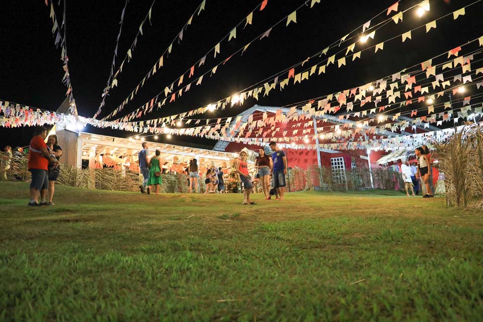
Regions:
M 0 320 L 483 316 L 483 217 L 442 197 L 0 192 Z

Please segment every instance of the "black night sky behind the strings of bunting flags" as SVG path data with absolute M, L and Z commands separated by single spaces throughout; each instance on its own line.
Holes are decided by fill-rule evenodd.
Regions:
M 122 115 L 133 111 L 157 93 L 163 91 L 182 72 L 189 69 L 212 48 L 234 25 L 243 20 L 261 0 L 207 0 L 205 11 L 195 15 L 193 23 L 184 31 L 183 41 L 173 45 L 172 54 L 165 57 L 165 67 L 146 81 L 135 100 L 125 107 Z M 401 0 L 399 10 L 409 8 L 420 1 Z M 432 0 L 431 11 L 423 18 L 408 12 L 403 23 L 390 23 L 376 33 L 374 44 L 404 31 L 428 23 L 451 13 L 473 1 Z M 143 17 L 152 0 L 130 0 L 127 6 L 119 43 L 117 65 L 120 64 L 131 45 Z M 100 117 L 117 107 L 142 77 L 152 68 L 160 54 L 179 33 L 183 24 L 201 0 L 157 0 L 152 8 L 152 26 L 143 27 L 138 38 L 133 59 L 125 64 L 118 76 L 117 88 L 106 99 Z M 232 52 L 243 47 L 249 40 L 263 33 L 274 23 L 290 14 L 303 3 L 300 0 L 269 0 L 262 12 L 255 12 L 253 25 L 245 30 L 238 28 L 237 38 L 221 43 L 221 53 L 213 58 L 208 55 L 206 63 L 196 69 L 195 76 L 211 69 Z M 308 4 L 310 1 L 308 1 Z M 275 72 L 285 69 L 306 57 L 324 49 L 356 27 L 362 25 L 394 3 L 394 0 L 332 1 L 322 0 L 312 9 L 297 11 L 297 24 L 285 23 L 272 30 L 263 41 L 255 41 L 243 56 L 233 56 L 218 68 L 213 77 L 204 77 L 201 86 L 177 98 L 149 118 L 168 116 L 188 111 L 223 99 L 243 90 Z M 63 0 L 54 0 L 57 17 L 61 19 Z M 101 94 L 109 77 L 123 0 L 92 0 L 89 2 L 67 1 L 67 50 L 74 98 L 80 115 L 92 117 L 101 102 Z M 254 104 L 284 106 L 290 103 L 333 93 L 366 84 L 400 69 L 431 58 L 468 40 L 481 36 L 483 6 L 478 3 L 456 21 L 448 17 L 438 22 L 433 32 L 424 28 L 413 33 L 413 39 L 404 44 L 393 41 L 384 45 L 382 53 L 363 54 L 362 59 L 349 62 L 337 69 L 328 67 L 327 74 L 311 77 L 309 81 L 289 86 L 284 91 L 260 99 L 249 99 L 243 106 L 219 111 L 216 117 L 234 116 Z M 385 15 L 382 17 L 386 18 Z M 379 17 L 371 25 L 381 21 Z M 0 99 L 26 104 L 42 109 L 56 110 L 64 100 L 66 91 L 61 83 L 63 76 L 60 49 L 55 48 L 51 33 L 52 22 L 49 7 L 43 0 L 4 1 L 0 12 L 2 50 L 0 50 Z M 186 76 L 185 76 L 186 77 Z M 132 133 L 87 128 L 108 135 L 126 137 Z M 3 138 L 0 147 L 27 145 L 33 128 L 0 129 Z M 162 141 L 163 138 L 160 139 Z M 204 144 L 212 147 L 213 140 L 176 137 L 171 142 L 185 145 Z

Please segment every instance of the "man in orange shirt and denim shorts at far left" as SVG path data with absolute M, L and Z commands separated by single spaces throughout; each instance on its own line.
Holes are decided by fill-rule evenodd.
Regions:
M 46 199 L 47 189 L 49 188 L 48 166 L 49 163 L 54 163 L 54 168 L 58 167 L 57 159 L 47 149 L 47 145 L 44 142 L 45 137 L 47 137 L 47 129 L 43 126 L 37 127 L 29 145 L 29 162 L 27 166 L 32 173 L 29 206 L 48 205 Z M 39 197 L 42 198 L 40 203 Z

